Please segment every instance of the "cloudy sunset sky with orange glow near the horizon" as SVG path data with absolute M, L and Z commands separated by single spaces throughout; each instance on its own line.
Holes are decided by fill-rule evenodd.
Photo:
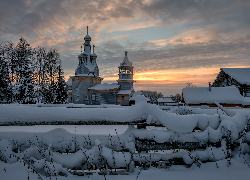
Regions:
M 104 83 L 128 51 L 135 90 L 169 96 L 250 67 L 249 12 L 249 0 L 1 0 L 0 42 L 58 49 L 67 79 L 89 26 Z

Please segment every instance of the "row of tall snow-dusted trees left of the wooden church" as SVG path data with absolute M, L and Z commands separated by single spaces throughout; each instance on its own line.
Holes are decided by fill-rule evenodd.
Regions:
M 21 38 L 0 44 L 0 101 L 6 103 L 65 103 L 66 83 L 56 49 L 32 48 Z

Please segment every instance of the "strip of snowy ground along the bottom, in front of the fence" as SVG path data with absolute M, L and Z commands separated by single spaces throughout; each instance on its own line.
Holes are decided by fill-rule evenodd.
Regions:
M 149 168 L 148 170 L 139 170 L 136 169 L 130 175 L 86 175 L 86 176 L 76 176 L 69 174 L 65 176 L 54 176 L 54 177 L 45 177 L 38 176 L 36 173 L 32 172 L 32 169 L 28 169 L 27 165 L 24 166 L 22 163 L 6 164 L 0 162 L 0 175 L 1 180 L 16 180 L 16 179 L 53 179 L 53 180 L 82 180 L 82 179 L 91 179 L 91 180 L 135 180 L 137 177 L 138 180 L 161 180 L 161 179 L 170 179 L 170 180 L 241 180 L 248 179 L 250 177 L 249 167 L 238 161 L 232 161 L 230 167 L 226 166 L 226 161 L 218 162 L 219 168 L 216 167 L 216 164 L 206 163 L 202 164 L 200 168 L 185 168 L 183 166 L 172 166 L 167 169 L 159 168 Z M 139 174 L 139 176 L 138 176 Z

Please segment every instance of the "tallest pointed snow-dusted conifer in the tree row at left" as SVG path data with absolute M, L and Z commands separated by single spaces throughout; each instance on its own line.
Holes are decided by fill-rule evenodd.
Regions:
M 33 50 L 27 40 L 21 38 L 16 49 L 18 66 L 17 82 L 14 86 L 14 97 L 18 103 L 35 103 L 35 82 L 33 79 Z

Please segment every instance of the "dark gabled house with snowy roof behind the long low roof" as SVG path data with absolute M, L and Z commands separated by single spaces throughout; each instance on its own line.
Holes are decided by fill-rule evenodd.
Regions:
M 250 97 L 250 68 L 221 68 L 212 87 L 235 86 L 240 94 Z

